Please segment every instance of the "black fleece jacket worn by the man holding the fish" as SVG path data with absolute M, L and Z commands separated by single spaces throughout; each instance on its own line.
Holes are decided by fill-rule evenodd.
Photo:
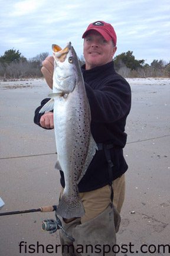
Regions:
M 90 70 L 81 68 L 91 110 L 91 133 L 96 143 L 113 144 L 110 155 L 113 162 L 113 180 L 128 169 L 123 148 L 126 145 L 126 118 L 131 106 L 131 91 L 128 82 L 115 72 L 114 63 Z M 50 98 L 41 102 L 35 110 L 34 123 L 40 125 L 39 110 Z M 64 174 L 61 185 L 64 187 Z M 109 183 L 106 156 L 103 150 L 96 152 L 86 174 L 78 187 L 80 192 L 94 190 Z

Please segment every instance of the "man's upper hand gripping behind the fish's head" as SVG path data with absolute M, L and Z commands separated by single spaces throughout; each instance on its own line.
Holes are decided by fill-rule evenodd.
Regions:
M 53 71 L 54 71 L 54 58 L 53 56 L 48 56 L 42 62 L 41 72 L 44 75 L 44 78 L 51 89 L 53 89 Z

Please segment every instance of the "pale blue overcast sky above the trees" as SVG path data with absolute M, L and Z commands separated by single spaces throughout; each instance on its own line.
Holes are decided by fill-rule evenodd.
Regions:
M 81 36 L 98 20 L 115 28 L 116 55 L 130 50 L 145 63 L 170 61 L 169 0 L 0 0 L 0 56 L 9 49 L 27 59 L 51 55 L 51 44 L 71 41 L 80 57 Z

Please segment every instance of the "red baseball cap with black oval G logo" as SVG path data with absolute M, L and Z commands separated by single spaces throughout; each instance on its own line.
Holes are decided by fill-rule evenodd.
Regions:
M 102 34 L 104 39 L 106 39 L 107 41 L 112 39 L 113 43 L 116 46 L 116 41 L 117 41 L 116 32 L 110 23 L 105 23 L 104 21 L 95 21 L 94 23 L 91 23 L 87 27 L 87 30 L 84 32 L 82 36 L 83 39 L 84 37 L 86 37 L 87 32 L 89 32 L 90 30 L 96 30 L 97 32 Z

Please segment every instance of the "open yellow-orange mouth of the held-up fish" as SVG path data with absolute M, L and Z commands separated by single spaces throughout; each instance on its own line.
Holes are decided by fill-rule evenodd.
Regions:
M 54 55 L 54 59 L 55 61 L 60 61 L 60 62 L 64 62 L 64 60 L 67 57 L 67 53 L 70 51 L 71 49 L 71 42 L 67 43 L 67 46 L 62 49 L 60 46 L 58 46 L 57 44 L 53 44 L 52 45 L 52 49 L 53 49 L 53 55 Z

